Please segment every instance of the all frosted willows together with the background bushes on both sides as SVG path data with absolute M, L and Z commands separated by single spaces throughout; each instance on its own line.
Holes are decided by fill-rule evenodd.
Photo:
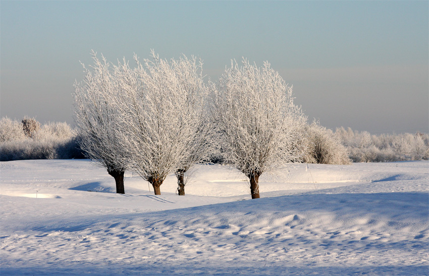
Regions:
M 75 83 L 77 130 L 67 123 L 41 125 L 34 118 L 0 120 L 1 161 L 88 158 L 99 161 L 125 193 L 130 170 L 155 194 L 170 173 L 185 194 L 186 175 L 195 164 L 222 160 L 243 172 L 252 198 L 259 176 L 286 163 L 350 164 L 429 159 L 429 135 L 370 135 L 350 128 L 307 124 L 294 105 L 292 86 L 264 62 L 231 62 L 218 82 L 203 82 L 195 57 L 150 59 L 130 67 L 98 58 Z M 77 145 L 79 144 L 80 147 Z M 350 160 L 351 159 L 351 160 Z

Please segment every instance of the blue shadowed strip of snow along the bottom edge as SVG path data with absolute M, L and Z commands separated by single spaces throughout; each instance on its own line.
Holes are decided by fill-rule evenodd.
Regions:
M 337 276 L 337 275 L 429 275 L 429 268 L 426 265 L 374 265 L 374 266 L 287 266 L 287 265 L 264 265 L 255 263 L 252 266 L 246 264 L 229 264 L 204 266 L 201 263 L 192 263 L 189 260 L 182 260 L 175 265 L 166 265 L 162 262 L 146 261 L 140 264 L 116 263 L 97 265 L 79 262 L 79 265 L 70 266 L 52 263 L 44 267 L 5 267 L 0 270 L 2 276 L 9 275 L 315 275 L 315 276 Z

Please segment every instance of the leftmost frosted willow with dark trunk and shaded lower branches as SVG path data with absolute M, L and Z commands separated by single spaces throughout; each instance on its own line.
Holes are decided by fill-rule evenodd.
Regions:
M 81 148 L 87 157 L 99 161 L 115 178 L 116 192 L 125 193 L 124 151 L 119 143 L 116 106 L 112 99 L 118 91 L 118 80 L 110 64 L 92 51 L 94 65 L 85 68 L 83 82 L 75 82 L 75 121 L 82 136 Z

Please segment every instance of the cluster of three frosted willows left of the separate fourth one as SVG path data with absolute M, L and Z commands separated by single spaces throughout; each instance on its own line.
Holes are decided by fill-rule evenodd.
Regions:
M 115 177 L 124 193 L 124 172 L 137 172 L 155 194 L 175 172 L 184 195 L 185 173 L 216 151 L 216 131 L 206 114 L 208 87 L 202 63 L 182 56 L 170 62 L 152 51 L 136 67 L 111 64 L 92 52 L 92 70 L 75 84 L 76 122 L 82 148 Z

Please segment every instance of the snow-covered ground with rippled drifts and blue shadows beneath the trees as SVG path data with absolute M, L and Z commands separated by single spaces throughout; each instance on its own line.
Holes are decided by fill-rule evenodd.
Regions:
M 198 166 L 186 195 L 88 160 L 0 163 L 1 275 L 429 275 L 429 162 Z M 151 187 L 150 187 L 151 188 Z

